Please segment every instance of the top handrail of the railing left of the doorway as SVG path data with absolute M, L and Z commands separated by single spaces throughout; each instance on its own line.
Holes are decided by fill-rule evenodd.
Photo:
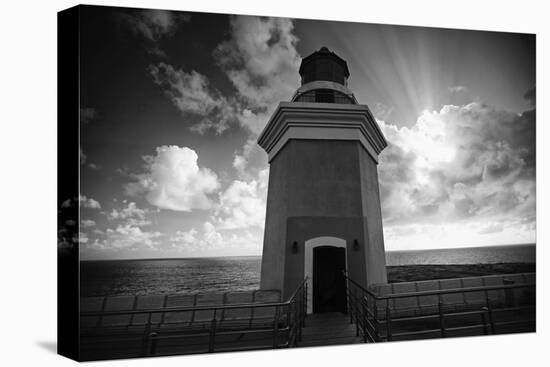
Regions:
M 175 307 L 162 307 L 162 308 L 148 308 L 148 309 L 131 309 L 131 310 L 112 310 L 112 311 L 87 311 L 81 312 L 80 316 L 118 316 L 118 315 L 136 315 L 136 314 L 149 314 L 149 313 L 164 313 L 164 312 L 192 312 L 192 311 L 210 311 L 210 310 L 231 310 L 239 308 L 266 308 L 266 307 L 282 307 L 288 306 L 296 298 L 296 295 L 304 287 L 307 281 L 307 277 L 298 285 L 296 290 L 284 302 L 254 302 L 254 303 L 232 303 L 232 304 L 218 304 L 218 305 L 195 305 L 195 306 L 175 306 Z

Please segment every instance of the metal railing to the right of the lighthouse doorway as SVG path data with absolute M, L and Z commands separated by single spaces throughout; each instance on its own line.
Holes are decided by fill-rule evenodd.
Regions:
M 350 323 L 355 323 L 357 336 L 363 341 L 380 342 L 421 337 L 446 337 L 460 333 L 496 334 L 505 328 L 534 330 L 535 284 L 519 283 L 496 286 L 438 289 L 379 295 L 359 283 L 348 281 L 347 299 Z M 514 299 L 514 290 L 526 289 L 525 299 Z M 491 300 L 490 292 L 503 292 L 502 300 Z M 482 300 L 471 304 L 443 302 L 445 295 L 481 292 Z M 396 300 L 437 297 L 432 306 L 398 309 Z M 519 302 L 521 301 L 521 302 Z M 497 317 L 500 315 L 501 317 Z M 497 320 L 498 319 L 498 320 Z M 477 320 L 477 321 L 476 321 Z M 521 329 L 521 330 L 523 330 Z

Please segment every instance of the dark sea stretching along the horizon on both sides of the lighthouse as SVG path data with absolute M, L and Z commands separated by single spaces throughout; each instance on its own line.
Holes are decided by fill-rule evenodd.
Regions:
M 387 265 L 534 263 L 535 245 L 388 251 Z M 82 261 L 81 297 L 257 289 L 261 257 Z

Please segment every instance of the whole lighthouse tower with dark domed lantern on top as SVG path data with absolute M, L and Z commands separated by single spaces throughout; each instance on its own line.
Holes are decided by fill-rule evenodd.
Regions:
M 270 172 L 261 284 L 287 298 L 308 277 L 308 313 L 346 311 L 345 270 L 386 283 L 378 155 L 387 146 L 347 88 L 346 61 L 322 47 L 302 60 L 301 86 L 258 144 Z

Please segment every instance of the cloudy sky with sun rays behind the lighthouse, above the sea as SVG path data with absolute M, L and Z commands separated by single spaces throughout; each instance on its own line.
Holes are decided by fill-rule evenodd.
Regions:
M 83 260 L 261 255 L 256 140 L 322 46 L 389 143 L 387 251 L 535 242 L 534 35 L 85 7 L 80 36 Z

